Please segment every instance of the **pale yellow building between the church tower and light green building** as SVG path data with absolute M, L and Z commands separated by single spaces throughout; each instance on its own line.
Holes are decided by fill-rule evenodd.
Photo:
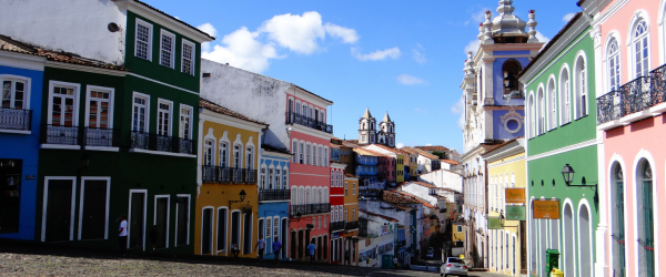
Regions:
M 508 276 L 527 274 L 525 138 L 483 154 L 488 163 L 488 267 Z

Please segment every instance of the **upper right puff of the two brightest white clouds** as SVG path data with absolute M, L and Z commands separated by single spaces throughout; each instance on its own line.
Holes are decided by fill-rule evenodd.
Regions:
M 280 14 L 263 22 L 259 29 L 272 41 L 296 53 L 311 54 L 319 49 L 317 39 L 323 40 L 326 31 L 322 25 L 322 16 L 316 11 L 299 14 Z

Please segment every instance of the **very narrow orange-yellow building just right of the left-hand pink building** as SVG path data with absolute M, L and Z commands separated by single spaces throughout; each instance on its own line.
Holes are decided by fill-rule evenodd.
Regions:
M 344 176 L 344 254 L 345 265 L 359 266 L 359 177 L 346 173 Z

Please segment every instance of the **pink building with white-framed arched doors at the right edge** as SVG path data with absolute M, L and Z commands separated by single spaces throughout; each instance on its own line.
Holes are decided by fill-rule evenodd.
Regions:
M 594 16 L 597 276 L 666 276 L 666 0 L 582 0 Z

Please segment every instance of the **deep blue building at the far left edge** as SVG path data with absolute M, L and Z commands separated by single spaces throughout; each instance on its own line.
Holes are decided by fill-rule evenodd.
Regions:
M 33 239 L 46 58 L 0 35 L 0 237 Z

